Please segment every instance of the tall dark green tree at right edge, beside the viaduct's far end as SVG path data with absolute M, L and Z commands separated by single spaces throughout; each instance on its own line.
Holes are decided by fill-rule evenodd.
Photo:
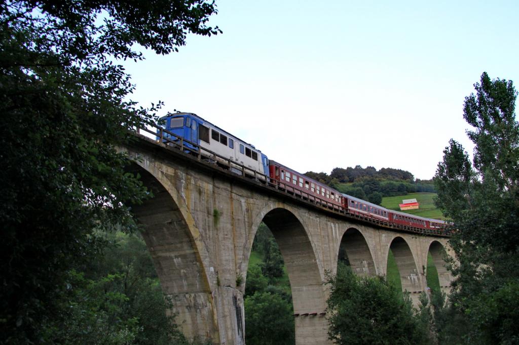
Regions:
M 516 343 L 519 329 L 519 124 L 512 81 L 486 73 L 465 98 L 473 127 L 473 164 L 455 140 L 434 178 L 437 205 L 453 222 L 450 245 L 459 263 L 450 296 L 454 312 L 471 327 L 467 343 Z

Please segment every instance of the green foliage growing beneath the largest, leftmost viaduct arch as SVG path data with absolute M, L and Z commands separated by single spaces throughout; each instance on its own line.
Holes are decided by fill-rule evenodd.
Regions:
M 122 233 L 84 273 L 71 270 L 69 288 L 55 302 L 58 313 L 45 324 L 50 343 L 186 343 L 166 309 L 144 241 Z

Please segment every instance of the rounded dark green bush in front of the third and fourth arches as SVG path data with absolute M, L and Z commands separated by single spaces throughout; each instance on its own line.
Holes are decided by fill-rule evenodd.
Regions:
M 427 332 L 414 317 L 411 301 L 402 300 L 383 278 L 358 277 L 339 264 L 328 277 L 329 338 L 337 344 L 420 344 Z

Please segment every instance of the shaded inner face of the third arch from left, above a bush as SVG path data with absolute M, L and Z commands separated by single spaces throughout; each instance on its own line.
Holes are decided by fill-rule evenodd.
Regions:
M 354 227 L 348 228 L 340 239 L 337 258 L 337 264 L 342 258 L 347 258 L 348 265 L 358 276 L 376 276 L 377 274 L 366 238 Z

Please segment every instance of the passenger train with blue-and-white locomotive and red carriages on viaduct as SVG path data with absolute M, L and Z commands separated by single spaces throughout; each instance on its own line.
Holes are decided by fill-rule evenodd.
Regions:
M 268 180 L 277 188 L 301 196 L 332 209 L 389 226 L 404 226 L 432 231 L 445 231 L 447 223 L 386 209 L 313 180 L 276 161 L 269 160 L 250 143 L 222 130 L 194 113 L 177 112 L 159 119 L 157 140 L 182 141 L 188 152 L 203 150 L 208 159 L 225 164 L 231 171 L 242 174 L 242 167 L 254 172 L 256 178 Z M 214 154 L 213 154 L 214 153 Z M 250 174 L 249 174 L 250 175 Z

